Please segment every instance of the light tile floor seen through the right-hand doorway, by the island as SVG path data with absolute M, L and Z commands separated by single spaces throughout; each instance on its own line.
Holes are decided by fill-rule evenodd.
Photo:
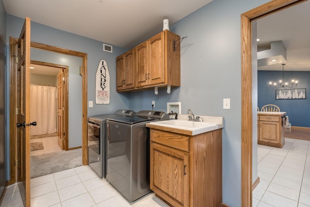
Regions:
M 310 207 L 310 142 L 285 138 L 283 148 L 258 145 L 260 183 L 253 207 Z

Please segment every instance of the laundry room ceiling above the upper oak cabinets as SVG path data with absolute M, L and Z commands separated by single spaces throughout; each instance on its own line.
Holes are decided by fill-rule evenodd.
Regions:
M 132 48 L 212 0 L 2 0 L 6 13 Z

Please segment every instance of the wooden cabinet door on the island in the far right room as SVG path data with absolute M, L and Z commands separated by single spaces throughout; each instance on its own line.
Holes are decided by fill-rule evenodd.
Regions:
M 279 122 L 260 121 L 260 141 L 280 143 Z

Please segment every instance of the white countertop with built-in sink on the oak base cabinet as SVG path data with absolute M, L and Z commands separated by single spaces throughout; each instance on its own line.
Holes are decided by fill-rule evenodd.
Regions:
M 193 121 L 179 120 L 179 119 L 150 122 L 146 126 L 151 127 L 150 125 L 183 129 L 183 130 L 190 131 L 191 135 L 197 135 L 197 134 L 201 134 L 204 132 L 216 130 L 218 128 L 222 128 L 221 124 L 208 123 L 208 122 L 193 122 Z

